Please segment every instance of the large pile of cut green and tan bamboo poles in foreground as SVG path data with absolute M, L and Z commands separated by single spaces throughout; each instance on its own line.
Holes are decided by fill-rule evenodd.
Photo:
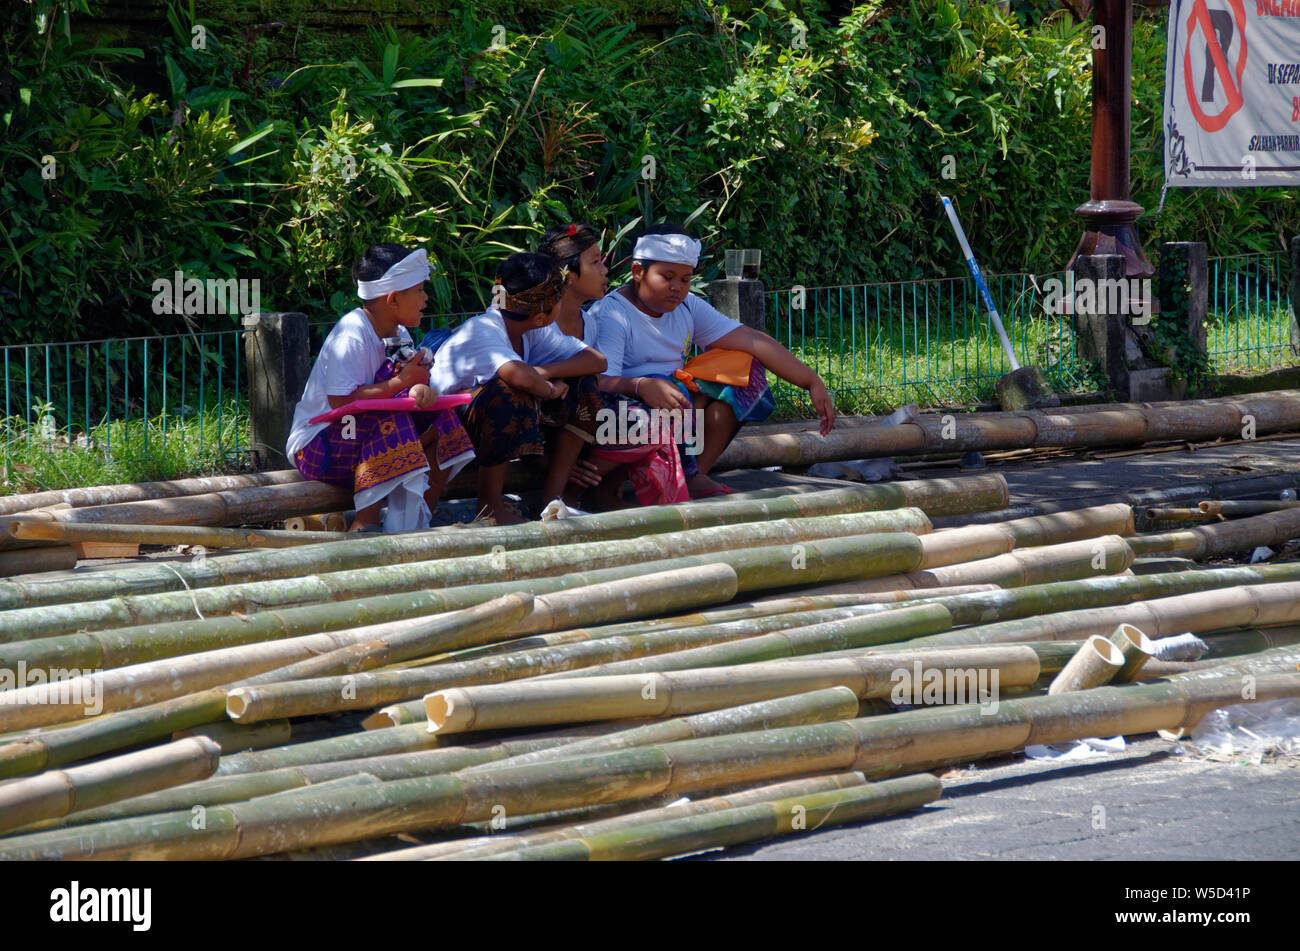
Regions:
M 90 501 L 178 499 L 0 521 L 88 538 Z M 757 492 L 0 582 L 0 859 L 667 857 L 923 809 L 957 757 L 1190 729 L 1244 676 L 1300 695 L 1300 565 L 1128 572 L 1291 512 L 932 530 L 1008 503 L 998 476 Z M 1208 659 L 1149 659 L 1188 630 Z

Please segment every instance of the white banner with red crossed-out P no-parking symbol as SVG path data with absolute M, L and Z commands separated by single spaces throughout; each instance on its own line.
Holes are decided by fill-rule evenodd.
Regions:
M 1300 0 L 1171 0 L 1165 181 L 1300 184 Z

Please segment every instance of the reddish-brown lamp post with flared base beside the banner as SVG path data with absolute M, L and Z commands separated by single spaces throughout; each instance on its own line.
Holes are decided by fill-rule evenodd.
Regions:
M 1128 191 L 1132 0 L 1097 0 L 1095 9 L 1101 30 L 1093 34 L 1092 51 L 1091 199 L 1076 209 L 1087 230 L 1066 269 L 1074 270 L 1084 255 L 1121 255 L 1124 270 L 1118 277 L 1149 278 L 1156 269 L 1134 223 L 1144 209 Z

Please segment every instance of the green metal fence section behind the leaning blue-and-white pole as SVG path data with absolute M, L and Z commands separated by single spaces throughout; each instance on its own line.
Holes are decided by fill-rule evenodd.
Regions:
M 1049 277 L 985 281 L 1017 360 L 1040 366 L 1058 390 L 1087 388 L 1071 318 L 1043 308 Z M 812 366 L 846 411 L 987 400 L 1011 369 L 971 278 L 789 288 L 768 292 L 764 305 L 767 331 Z M 785 383 L 776 395 L 779 407 L 806 401 Z

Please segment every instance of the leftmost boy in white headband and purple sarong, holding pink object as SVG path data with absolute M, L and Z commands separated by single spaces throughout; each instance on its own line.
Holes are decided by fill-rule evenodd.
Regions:
M 428 295 L 429 259 L 422 248 L 372 244 L 352 268 L 361 305 L 339 318 L 321 346 L 294 412 L 286 453 L 304 478 L 354 492 L 352 531 L 429 525 L 450 479 L 473 459 L 469 437 L 450 409 L 421 412 L 438 394 L 429 368 L 390 352 L 410 347 Z M 311 422 L 355 400 L 415 398 L 416 412 L 370 411 L 334 422 Z

